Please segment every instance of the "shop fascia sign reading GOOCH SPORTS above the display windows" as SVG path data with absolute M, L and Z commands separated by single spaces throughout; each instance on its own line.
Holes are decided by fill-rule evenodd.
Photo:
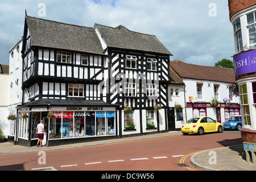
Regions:
M 50 111 L 113 111 L 113 107 L 50 107 Z

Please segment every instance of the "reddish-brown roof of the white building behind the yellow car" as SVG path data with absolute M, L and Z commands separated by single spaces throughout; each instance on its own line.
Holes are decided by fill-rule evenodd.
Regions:
M 233 83 L 236 82 L 234 69 L 206 67 L 195 64 L 187 64 L 180 60 L 170 61 L 170 66 L 183 78 L 196 80 L 211 80 Z

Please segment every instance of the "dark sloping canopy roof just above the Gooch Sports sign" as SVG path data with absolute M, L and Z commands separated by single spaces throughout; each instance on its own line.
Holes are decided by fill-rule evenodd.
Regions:
M 104 101 L 88 101 L 88 100 L 61 100 L 61 99 L 40 99 L 26 104 L 20 105 L 17 109 L 23 107 L 65 107 L 65 106 L 79 106 L 79 107 L 119 107 L 118 104 L 108 104 Z

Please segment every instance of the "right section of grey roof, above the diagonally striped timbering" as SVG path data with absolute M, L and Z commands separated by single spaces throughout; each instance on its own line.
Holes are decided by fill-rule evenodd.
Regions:
M 114 28 L 95 24 L 94 27 L 98 28 L 108 47 L 172 55 L 155 35 L 130 31 L 122 25 Z

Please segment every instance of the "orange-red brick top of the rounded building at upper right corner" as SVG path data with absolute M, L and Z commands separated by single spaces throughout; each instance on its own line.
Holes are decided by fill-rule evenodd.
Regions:
M 228 1 L 229 1 L 230 19 L 238 11 L 241 11 L 243 9 L 246 9 L 247 7 L 256 5 L 255 0 L 228 0 Z

